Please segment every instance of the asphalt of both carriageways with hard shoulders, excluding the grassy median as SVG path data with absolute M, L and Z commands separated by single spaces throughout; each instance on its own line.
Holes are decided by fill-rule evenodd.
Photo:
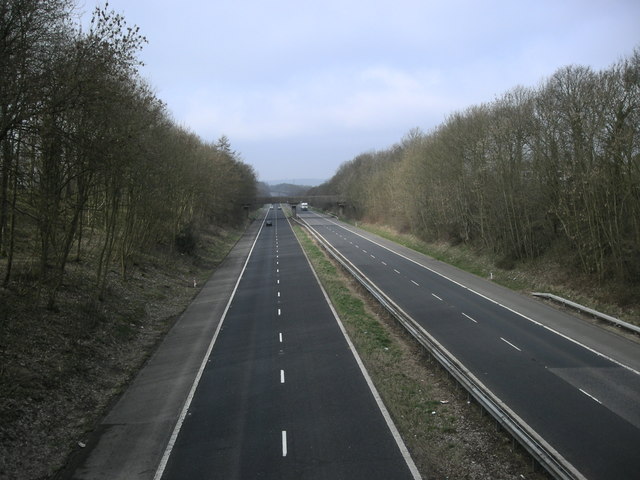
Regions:
M 557 476 L 640 478 L 637 343 L 333 218 L 298 216 L 532 432 Z M 188 367 L 161 347 L 155 377 L 141 372 L 101 427 L 135 435 L 103 435 L 70 478 L 420 478 L 282 210 L 251 239 L 229 294 L 212 293 L 223 290 L 214 275 L 176 325 L 187 333 L 171 355 Z M 117 413 L 137 411 L 145 390 L 144 421 Z

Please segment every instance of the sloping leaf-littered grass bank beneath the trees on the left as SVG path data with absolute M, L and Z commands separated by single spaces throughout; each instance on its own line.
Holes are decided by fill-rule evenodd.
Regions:
M 140 255 L 126 282 L 110 273 L 101 302 L 90 262 L 72 263 L 56 311 L 23 264 L 0 290 L 0 478 L 50 478 L 64 465 L 239 235 L 208 232 L 193 257 Z

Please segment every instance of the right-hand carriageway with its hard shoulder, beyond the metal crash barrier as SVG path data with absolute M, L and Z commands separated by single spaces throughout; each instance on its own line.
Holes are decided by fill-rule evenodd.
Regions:
M 501 293 L 485 285 L 490 282 L 447 267 L 465 284 L 453 281 L 435 271 L 439 267 L 432 259 L 332 218 L 313 212 L 299 216 L 579 476 L 640 478 L 640 345 L 601 329 L 585 329 L 565 313 L 512 299 L 513 292 Z M 501 295 L 510 298 L 503 301 Z

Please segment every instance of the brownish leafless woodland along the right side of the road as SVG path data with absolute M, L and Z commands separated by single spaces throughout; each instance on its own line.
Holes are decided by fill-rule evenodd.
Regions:
M 343 164 L 316 194 L 355 219 L 640 284 L 640 49 L 558 70 Z M 313 193 L 312 192 L 312 193 Z

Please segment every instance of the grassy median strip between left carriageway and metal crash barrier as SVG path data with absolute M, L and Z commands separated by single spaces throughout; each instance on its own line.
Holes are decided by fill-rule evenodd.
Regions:
M 546 478 L 306 230 L 294 230 L 423 478 Z

